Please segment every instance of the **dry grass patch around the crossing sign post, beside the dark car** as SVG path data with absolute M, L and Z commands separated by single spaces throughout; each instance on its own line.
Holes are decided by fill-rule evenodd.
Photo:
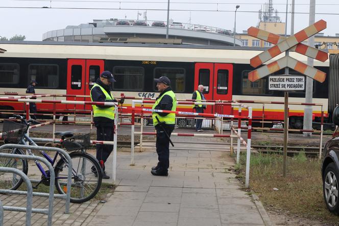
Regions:
M 283 156 L 279 154 L 252 154 L 250 163 L 250 188 L 270 210 L 281 210 L 311 219 L 337 225 L 339 217 L 330 213 L 323 200 L 321 164 L 319 159 L 309 159 L 301 151 L 287 157 L 287 176 L 283 177 Z M 240 155 L 237 178 L 245 180 L 246 155 Z M 274 191 L 278 188 L 279 191 Z

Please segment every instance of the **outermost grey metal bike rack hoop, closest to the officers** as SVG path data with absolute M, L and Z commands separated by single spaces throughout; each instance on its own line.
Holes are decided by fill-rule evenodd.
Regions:
M 5 144 L 5 145 L 2 145 L 0 146 L 0 151 L 1 150 L 4 150 L 4 149 L 10 149 L 10 148 L 18 148 L 18 149 L 34 149 L 34 150 L 38 150 L 38 151 L 56 151 L 56 152 L 59 152 L 61 153 L 62 155 L 64 155 L 68 161 L 68 175 L 67 175 L 67 192 L 66 192 L 66 195 L 62 195 L 62 194 L 54 194 L 54 197 L 55 198 L 64 198 L 66 199 L 66 205 L 65 205 L 65 213 L 69 213 L 69 202 L 70 202 L 70 186 L 71 186 L 71 177 L 72 177 L 72 161 L 70 159 L 70 156 L 69 154 L 61 149 L 61 148 L 55 148 L 55 147 L 42 147 L 42 146 L 31 146 L 31 145 L 21 145 L 21 144 Z M 4 154 L 4 153 L 3 153 Z M 19 154 L 14 154 L 15 157 L 18 157 Z M 22 154 L 21 154 L 22 155 Z M 0 155 L 1 156 L 1 155 Z M 20 156 L 20 155 L 19 155 Z M 32 155 L 22 155 L 22 156 L 31 156 L 31 157 L 38 157 L 38 156 L 32 156 Z M 42 159 L 43 163 L 45 163 L 45 161 L 47 161 L 46 159 L 42 158 L 42 157 L 39 157 L 40 159 Z M 28 158 L 29 159 L 29 158 Z M 40 161 L 39 159 L 39 161 Z M 32 159 L 34 160 L 34 159 Z M 48 161 L 47 161 L 48 162 Z M 50 162 L 48 162 L 50 164 Z M 52 167 L 52 170 L 50 169 L 50 172 L 53 171 L 53 174 L 54 174 L 54 169 Z M 51 176 L 52 176 L 52 173 L 51 173 Z M 39 182 L 40 180 L 31 180 L 32 182 Z M 52 181 L 52 180 L 51 180 Z M 53 180 L 53 183 L 54 183 L 55 180 Z M 54 193 L 54 184 L 52 185 L 52 187 L 50 186 L 50 190 L 51 188 L 53 188 L 53 193 Z M 12 191 L 11 192 L 19 192 L 19 191 Z M 15 194 L 15 193 L 12 193 L 12 194 Z M 36 196 L 40 196 L 40 197 L 48 197 L 49 195 L 46 194 L 46 193 L 40 193 L 40 192 L 34 192 L 34 194 Z

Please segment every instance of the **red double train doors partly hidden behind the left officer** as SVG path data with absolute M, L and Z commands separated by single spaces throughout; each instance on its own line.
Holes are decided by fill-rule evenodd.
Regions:
M 100 72 L 104 70 L 104 60 L 69 59 L 67 63 L 67 95 L 79 96 L 77 101 L 90 101 L 90 88 Z M 67 97 L 67 100 L 74 100 L 74 97 Z M 67 104 L 67 109 L 91 109 L 90 105 Z

